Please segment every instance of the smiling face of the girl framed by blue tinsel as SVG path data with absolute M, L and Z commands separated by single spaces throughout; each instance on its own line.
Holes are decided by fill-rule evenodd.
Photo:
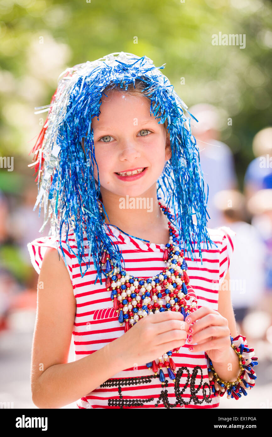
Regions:
M 159 119 L 150 116 L 147 97 L 116 90 L 106 94 L 99 120 L 92 119 L 102 196 L 105 190 L 118 196 L 141 195 L 156 186 L 165 161 L 171 157 L 169 138 Z M 128 176 L 118 174 L 136 169 L 145 170 Z M 97 180 L 96 165 L 94 176 Z

